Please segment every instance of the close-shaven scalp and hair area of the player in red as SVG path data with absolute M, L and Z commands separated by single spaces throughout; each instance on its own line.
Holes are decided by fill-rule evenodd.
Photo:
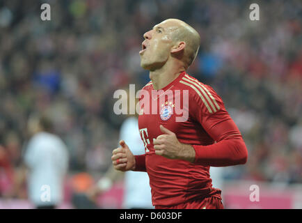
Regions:
M 189 68 L 191 63 L 195 60 L 200 47 L 200 36 L 198 32 L 182 20 L 168 19 L 161 23 L 169 24 L 171 38 L 175 43 L 180 43 L 182 41 L 186 43 L 182 61 L 184 61 L 186 68 Z

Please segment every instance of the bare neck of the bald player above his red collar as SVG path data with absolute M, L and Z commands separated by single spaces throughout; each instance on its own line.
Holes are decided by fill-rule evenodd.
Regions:
M 152 80 L 153 89 L 163 89 L 170 84 L 170 82 L 173 82 L 182 72 L 184 72 L 184 67 L 169 66 L 167 63 L 157 70 L 150 70 L 150 79 Z

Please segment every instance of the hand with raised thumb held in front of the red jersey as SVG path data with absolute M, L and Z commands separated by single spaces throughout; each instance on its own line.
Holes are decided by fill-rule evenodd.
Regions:
M 162 155 L 169 159 L 180 159 L 193 162 L 195 160 L 195 150 L 189 144 L 182 144 L 178 141 L 176 134 L 163 125 L 159 125 L 161 134 L 153 140 L 155 154 Z

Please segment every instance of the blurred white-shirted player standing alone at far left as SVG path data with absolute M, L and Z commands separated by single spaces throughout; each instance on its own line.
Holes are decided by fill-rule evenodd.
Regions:
M 63 183 L 68 167 L 68 153 L 63 141 L 52 134 L 48 118 L 33 118 L 29 130 L 34 132 L 24 154 L 23 181 L 27 177 L 29 200 L 35 208 L 56 208 L 63 200 Z M 20 184 L 20 183 L 19 183 Z

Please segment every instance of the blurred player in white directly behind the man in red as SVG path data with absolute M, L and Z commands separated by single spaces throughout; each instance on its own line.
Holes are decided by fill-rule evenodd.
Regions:
M 138 132 L 137 114 L 129 116 L 122 123 L 120 128 L 120 139 L 123 139 L 127 143 L 134 155 L 145 153 L 143 141 Z M 148 174 L 138 171 L 127 171 L 124 173 L 116 171 L 113 166 L 111 166 L 106 174 L 104 174 L 104 177 L 98 181 L 97 185 L 88 191 L 88 197 L 95 199 L 97 194 L 109 190 L 111 185 L 118 180 L 120 176 L 124 176 L 125 183 L 124 199 L 122 203 L 123 208 L 154 208 L 154 206 L 152 206 L 151 187 Z

